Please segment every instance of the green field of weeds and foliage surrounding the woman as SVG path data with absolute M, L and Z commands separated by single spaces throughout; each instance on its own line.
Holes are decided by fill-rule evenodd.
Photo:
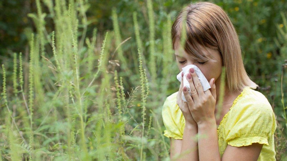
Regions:
M 170 160 L 171 25 L 189 2 L 27 0 L 14 16 L 23 2 L 0 2 L 0 161 Z M 276 159 L 287 160 L 287 1 L 212 2 L 236 28 L 276 115 Z M 21 36 L 10 35 L 14 20 Z

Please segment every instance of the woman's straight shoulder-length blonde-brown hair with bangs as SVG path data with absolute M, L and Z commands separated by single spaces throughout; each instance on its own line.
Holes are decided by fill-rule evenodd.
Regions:
M 184 25 L 184 26 L 183 26 Z M 185 28 L 185 30 L 182 30 Z M 181 33 L 186 33 L 184 50 L 197 60 L 211 60 L 200 53 L 198 44 L 217 49 L 225 67 L 225 85 L 229 91 L 239 91 L 244 87 L 256 89 L 243 65 L 241 48 L 236 30 L 225 11 L 211 2 L 192 2 L 177 15 L 172 28 L 172 48 L 180 42 Z M 212 55 L 211 55 L 212 56 Z

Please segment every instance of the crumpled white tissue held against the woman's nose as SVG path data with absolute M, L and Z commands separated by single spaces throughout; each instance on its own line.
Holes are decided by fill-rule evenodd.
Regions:
M 190 68 L 193 68 L 195 73 L 197 74 L 199 82 L 202 85 L 203 91 L 206 91 L 206 90 L 210 89 L 211 88 L 210 84 L 207 81 L 206 77 L 201 72 L 201 70 L 196 65 L 193 65 L 193 64 L 187 65 L 187 66 L 182 68 L 182 71 L 179 74 L 177 74 L 176 78 L 178 79 L 179 82 L 181 82 L 181 73 L 182 72 L 184 73 L 184 75 L 183 75 L 183 87 L 187 88 L 189 95 L 191 95 L 191 90 L 190 90 L 189 82 L 188 82 L 188 80 L 186 78 L 186 75 L 189 73 L 189 69 Z M 181 98 L 182 98 L 183 101 L 186 102 L 186 99 L 184 97 L 183 91 L 181 92 Z

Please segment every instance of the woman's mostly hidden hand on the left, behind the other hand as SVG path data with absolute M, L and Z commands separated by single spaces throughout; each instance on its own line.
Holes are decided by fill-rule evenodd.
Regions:
M 183 75 L 184 73 L 181 73 L 181 82 L 180 87 L 177 93 L 177 100 L 176 103 L 179 106 L 179 109 L 181 110 L 183 117 L 185 119 L 185 126 L 197 126 L 196 121 L 193 120 L 193 117 L 191 115 L 191 112 L 189 111 L 187 102 L 183 101 L 181 99 L 181 93 L 183 90 Z

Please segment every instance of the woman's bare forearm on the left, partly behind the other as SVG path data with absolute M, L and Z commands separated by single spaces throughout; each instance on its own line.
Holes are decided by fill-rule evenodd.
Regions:
M 180 161 L 198 161 L 197 125 L 185 125 L 182 137 Z

